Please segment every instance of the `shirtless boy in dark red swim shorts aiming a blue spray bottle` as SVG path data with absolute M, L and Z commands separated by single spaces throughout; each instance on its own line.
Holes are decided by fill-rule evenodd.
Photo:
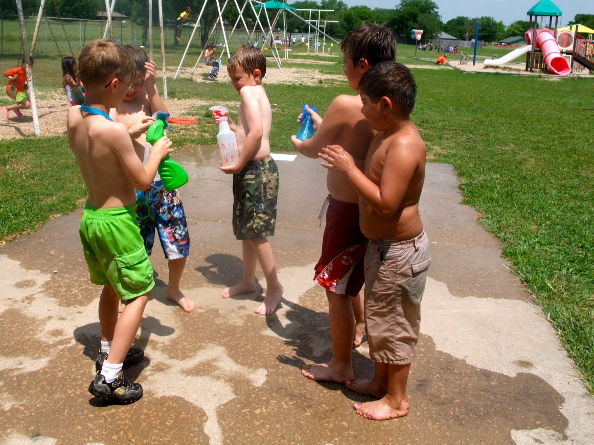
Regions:
M 394 34 L 380 25 L 366 25 L 350 31 L 341 43 L 343 71 L 350 87 L 357 91 L 359 80 L 371 66 L 393 61 L 396 57 Z M 361 97 L 343 94 L 336 97 L 324 120 L 310 112 L 318 129 L 308 141 L 301 142 L 292 136 L 296 151 L 310 158 L 317 158 L 326 145 L 339 144 L 349 152 L 359 166 L 363 166 L 369 143 L 374 136 L 371 126 L 361 113 Z M 320 260 L 315 266 L 315 279 L 326 288 L 332 358 L 328 363 L 305 365 L 301 372 L 309 379 L 345 383 L 354 378 L 352 347 L 355 334 L 353 306 L 360 308 L 362 321 L 363 257 L 367 239 L 359 229 L 359 195 L 344 176 L 328 170 L 328 210 L 326 230 Z M 350 267 L 345 268 L 343 258 L 348 256 Z M 337 259 L 336 261 L 333 261 Z M 352 304 L 353 299 L 357 299 Z M 358 338 L 363 328 L 359 325 Z M 360 340 L 358 341 L 360 343 Z M 356 343 L 355 343 L 356 345 Z

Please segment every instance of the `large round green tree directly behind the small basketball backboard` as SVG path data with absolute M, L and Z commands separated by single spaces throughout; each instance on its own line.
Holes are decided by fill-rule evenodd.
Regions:
M 413 29 L 424 30 L 423 37 L 434 39 L 442 23 L 439 7 L 431 0 L 402 0 L 388 21 L 397 36 L 410 36 Z

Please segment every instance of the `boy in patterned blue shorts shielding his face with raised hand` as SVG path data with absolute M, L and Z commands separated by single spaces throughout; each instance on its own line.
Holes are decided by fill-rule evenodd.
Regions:
M 139 119 L 153 120 L 157 111 L 167 112 L 165 102 L 156 88 L 156 65 L 149 61 L 146 52 L 137 45 L 126 45 L 124 50 L 134 60 L 132 88 L 124 97 L 124 101 L 112 110 L 115 120 L 128 126 L 132 136 L 134 149 L 145 161 L 149 157 L 146 134 L 138 135 L 134 131 Z M 167 298 L 175 301 L 186 312 L 194 310 L 194 302 L 189 300 L 181 290 L 179 282 L 184 273 L 186 259 L 189 255 L 188 224 L 184 205 L 179 199 L 178 190 L 165 190 L 159 173 L 147 190 L 137 190 L 137 219 L 140 233 L 144 240 L 147 255 L 153 250 L 154 231 L 159 232 L 159 239 L 165 258 L 168 259 L 169 285 Z

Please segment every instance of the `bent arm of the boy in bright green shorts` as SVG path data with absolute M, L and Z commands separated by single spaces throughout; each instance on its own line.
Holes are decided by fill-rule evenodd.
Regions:
M 134 151 L 132 139 L 124 125 L 117 125 L 110 128 L 108 132 L 108 144 L 112 147 L 126 176 L 137 190 L 146 190 L 153 182 L 157 173 L 160 161 L 173 150 L 171 141 L 167 136 L 159 139 L 150 150 L 149 161 L 143 166 L 142 161 Z

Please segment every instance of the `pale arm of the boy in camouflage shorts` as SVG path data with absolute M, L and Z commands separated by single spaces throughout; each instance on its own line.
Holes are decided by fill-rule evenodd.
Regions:
M 232 166 L 220 167 L 225 173 L 239 173 L 254 158 L 254 155 L 260 150 L 262 136 L 264 136 L 264 126 L 262 115 L 260 113 L 260 101 L 254 89 L 255 87 L 243 87 L 239 91 L 241 98 L 241 108 L 245 116 L 243 122 L 245 130 L 244 146 L 239 152 L 239 160 Z

